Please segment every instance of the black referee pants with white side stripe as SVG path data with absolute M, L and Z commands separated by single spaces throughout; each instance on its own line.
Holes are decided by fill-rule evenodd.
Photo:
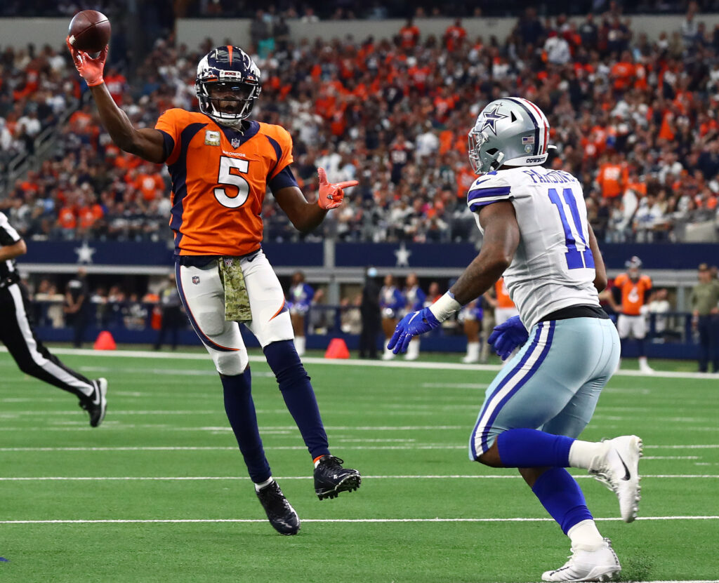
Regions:
M 0 341 L 22 372 L 77 395 L 90 396 L 92 381 L 63 365 L 35 336 L 32 304 L 21 283 L 0 287 Z

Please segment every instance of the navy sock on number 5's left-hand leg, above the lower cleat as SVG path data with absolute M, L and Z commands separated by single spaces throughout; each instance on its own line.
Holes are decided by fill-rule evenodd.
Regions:
M 249 477 L 257 483 L 269 480 L 272 472 L 262 449 L 260 429 L 257 428 L 255 403 L 252 401 L 252 380 L 249 366 L 241 375 L 220 375 L 224 388 L 225 412 L 232 426 L 234 437 L 237 438 L 239 451 L 242 452 L 244 463 L 247 464 Z

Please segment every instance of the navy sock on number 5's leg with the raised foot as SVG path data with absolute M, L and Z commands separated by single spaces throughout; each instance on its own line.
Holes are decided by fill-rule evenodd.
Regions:
M 310 378 L 303 367 L 292 340 L 280 340 L 263 349 L 267 364 L 277 377 L 280 391 L 290 414 L 295 419 L 302 439 L 313 459 L 329 454 L 319 407 Z

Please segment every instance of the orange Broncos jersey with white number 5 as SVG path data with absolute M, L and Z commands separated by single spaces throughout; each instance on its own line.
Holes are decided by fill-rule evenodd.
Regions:
M 173 182 L 170 228 L 177 255 L 252 253 L 262 243 L 267 187 L 296 186 L 289 169 L 292 138 L 280 127 L 250 121 L 244 132 L 204 113 L 169 109 L 155 129 L 165 137 Z

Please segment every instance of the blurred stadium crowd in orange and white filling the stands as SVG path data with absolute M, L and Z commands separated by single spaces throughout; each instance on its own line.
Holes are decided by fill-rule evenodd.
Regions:
M 464 203 L 474 179 L 467 131 L 500 95 L 522 95 L 546 111 L 557 146 L 549 164 L 582 180 L 600 241 L 672 241 L 692 223 L 715 233 L 719 27 L 708 30 L 693 9 L 654 42 L 633 34 L 616 8 L 579 21 L 542 19 L 529 8 L 502 40 L 467 30 L 460 19 L 442 37 L 423 35 L 408 19 L 392 41 L 296 44 L 280 17 L 260 12 L 257 19 L 265 26 L 246 47 L 263 79 L 253 116 L 290 130 L 293 169 L 308 195 L 316 192 L 318 166 L 333 180 L 359 179 L 310 238 L 477 236 Z M 189 50 L 158 40 L 132 83 L 113 67 L 106 83 L 134 123 L 152 125 L 167 108 L 195 107 L 196 63 L 211 46 Z M 35 104 L 45 112 L 41 125 L 51 123 L 78 83 L 70 80 L 68 56 L 49 47 L 36 59 L 43 65 L 34 88 L 30 55 L 4 55 L 10 75 L 1 88 L 0 126 L 15 147 L 29 147 L 24 109 Z M 27 96 L 16 100 L 8 85 L 26 88 Z M 56 154 L 0 201 L 26 238 L 169 238 L 164 168 L 119 151 L 91 105 L 60 131 Z M 265 238 L 299 236 L 269 195 L 263 218 Z

